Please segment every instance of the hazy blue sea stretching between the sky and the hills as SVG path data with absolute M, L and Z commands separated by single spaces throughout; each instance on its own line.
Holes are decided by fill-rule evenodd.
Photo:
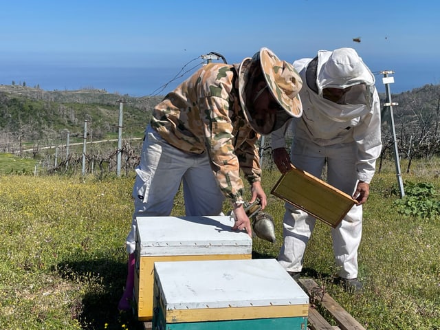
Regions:
M 197 69 L 197 68 L 195 68 Z M 81 67 L 72 65 L 2 65 L 0 63 L 0 85 L 23 85 L 39 87 L 45 91 L 103 89 L 109 93 L 133 97 L 165 95 L 179 83 L 195 72 L 193 69 L 182 76 L 177 67 Z M 421 70 L 411 65 L 399 65 L 391 69 L 395 72 L 395 83 L 391 84 L 391 93 L 423 87 L 427 84 L 439 84 L 440 77 L 435 76 L 438 68 L 426 67 Z M 371 67 L 375 73 L 376 88 L 385 91 L 383 75 Z

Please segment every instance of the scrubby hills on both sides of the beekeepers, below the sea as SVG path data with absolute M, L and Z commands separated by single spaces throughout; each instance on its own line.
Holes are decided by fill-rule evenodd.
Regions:
M 118 133 L 119 101 L 123 100 L 124 137 L 142 136 L 151 109 L 163 96 L 133 98 L 99 89 L 44 91 L 19 85 L 0 85 L 0 151 L 17 150 L 23 144 L 50 145 L 72 138 L 83 138 L 84 121 L 94 140 L 115 137 Z M 380 94 L 382 104 L 385 94 Z M 438 153 L 440 146 L 440 85 L 425 85 L 392 95 L 395 127 L 404 150 Z M 384 116 L 384 122 L 386 117 Z M 384 129 L 384 145 L 391 136 Z

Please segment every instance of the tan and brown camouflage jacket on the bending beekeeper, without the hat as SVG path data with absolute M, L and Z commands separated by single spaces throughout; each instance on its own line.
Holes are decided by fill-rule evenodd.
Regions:
M 243 181 L 261 181 L 256 141 L 239 100 L 239 65 L 210 63 L 167 94 L 153 110 L 151 126 L 172 146 L 207 153 L 225 197 L 242 201 Z

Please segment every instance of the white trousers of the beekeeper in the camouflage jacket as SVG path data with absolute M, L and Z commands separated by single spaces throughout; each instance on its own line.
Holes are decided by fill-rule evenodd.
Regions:
M 186 216 L 221 214 L 224 197 L 212 173 L 208 155 L 180 151 L 148 125 L 133 186 L 134 212 L 126 238 L 129 254 L 135 250 L 136 217 L 170 215 L 181 183 Z

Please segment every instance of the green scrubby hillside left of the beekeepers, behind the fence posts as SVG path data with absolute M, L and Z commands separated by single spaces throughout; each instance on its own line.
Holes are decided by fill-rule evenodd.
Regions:
M 142 135 L 151 109 L 163 96 L 132 98 L 98 89 L 44 91 L 18 85 L 0 86 L 0 151 L 17 150 L 19 144 L 45 145 L 83 137 L 84 122 L 94 139 L 118 132 L 120 100 L 126 136 Z

